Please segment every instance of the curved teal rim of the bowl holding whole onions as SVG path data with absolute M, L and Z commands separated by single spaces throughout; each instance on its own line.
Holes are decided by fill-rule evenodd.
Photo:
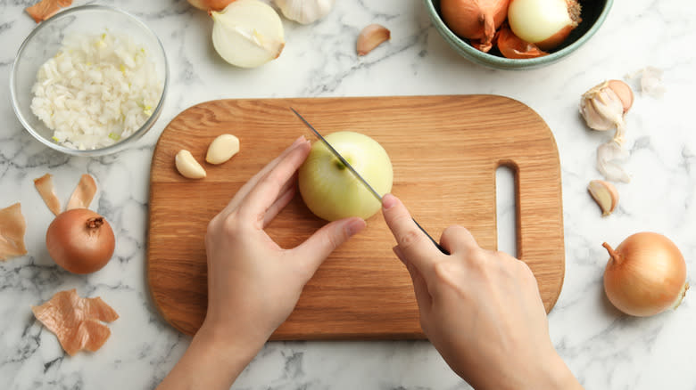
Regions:
M 444 24 L 444 21 L 440 17 L 440 14 L 435 10 L 435 4 L 433 0 L 423 0 L 423 4 L 426 5 L 428 16 L 430 20 L 435 24 L 435 28 L 444 38 L 445 42 L 450 45 L 457 53 L 468 60 L 474 61 L 478 64 L 485 65 L 495 69 L 531 69 L 538 68 L 543 65 L 548 65 L 553 62 L 559 61 L 562 58 L 568 56 L 568 54 L 576 51 L 578 47 L 584 45 L 587 40 L 589 40 L 604 24 L 604 20 L 607 19 L 609 15 L 609 10 L 614 4 L 614 0 L 607 0 L 604 5 L 604 9 L 601 10 L 600 16 L 592 24 L 592 27 L 587 30 L 581 37 L 577 38 L 572 44 L 560 49 L 558 52 L 545 55 L 543 57 L 530 58 L 530 59 L 510 59 L 505 57 L 499 57 L 497 55 L 481 52 L 476 50 L 473 46 L 469 45 L 468 42 L 458 37 L 456 34 Z

